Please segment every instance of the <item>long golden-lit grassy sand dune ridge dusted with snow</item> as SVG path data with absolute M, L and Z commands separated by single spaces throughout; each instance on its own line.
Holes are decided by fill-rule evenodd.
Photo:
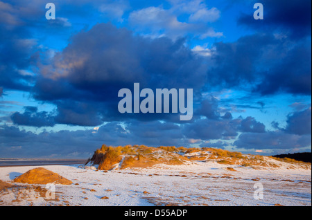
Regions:
M 113 169 L 120 164 L 121 169 L 126 167 L 148 167 L 157 163 L 168 165 L 180 165 L 187 161 L 213 161 L 223 165 L 240 165 L 242 167 L 279 167 L 278 163 L 268 161 L 272 158 L 290 164 L 302 164 L 291 158 L 274 158 L 261 155 L 242 154 L 241 152 L 230 152 L 225 149 L 210 147 L 175 147 L 160 146 L 148 147 L 146 145 L 125 145 L 112 147 L 102 145 L 96 149 L 94 156 L 88 161 L 98 164 L 98 169 Z M 311 163 L 310 163 L 311 165 Z M 304 164 L 307 167 L 309 165 Z M 291 167 L 291 166 L 290 166 Z

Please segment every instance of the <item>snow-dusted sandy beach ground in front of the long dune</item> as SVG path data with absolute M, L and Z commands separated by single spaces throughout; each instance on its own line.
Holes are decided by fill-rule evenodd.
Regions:
M 212 161 L 108 172 L 79 165 L 40 166 L 73 182 L 55 185 L 58 201 L 49 201 L 27 184 L 12 183 L 35 167 L 0 167 L 0 180 L 21 186 L 0 191 L 0 205 L 311 205 L 311 169 L 253 169 Z M 261 187 L 263 199 L 254 199 Z

